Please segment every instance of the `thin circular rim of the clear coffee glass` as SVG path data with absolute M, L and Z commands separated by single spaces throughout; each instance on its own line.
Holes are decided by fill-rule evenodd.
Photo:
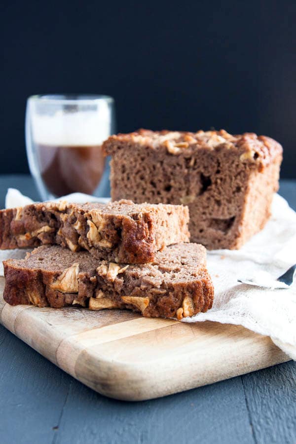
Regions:
M 27 101 L 59 105 L 91 105 L 101 101 L 113 103 L 114 99 L 104 94 L 34 94 L 29 96 Z

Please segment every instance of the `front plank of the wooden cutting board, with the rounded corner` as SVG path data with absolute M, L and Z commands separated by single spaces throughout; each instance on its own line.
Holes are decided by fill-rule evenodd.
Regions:
M 75 377 L 104 396 L 144 401 L 285 360 L 270 338 L 241 326 L 176 323 L 81 351 Z

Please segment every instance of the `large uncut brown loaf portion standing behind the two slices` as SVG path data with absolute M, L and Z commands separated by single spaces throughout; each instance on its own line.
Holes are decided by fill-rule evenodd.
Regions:
M 190 240 L 238 249 L 263 228 L 282 147 L 253 133 L 139 130 L 109 137 L 111 198 L 188 205 Z

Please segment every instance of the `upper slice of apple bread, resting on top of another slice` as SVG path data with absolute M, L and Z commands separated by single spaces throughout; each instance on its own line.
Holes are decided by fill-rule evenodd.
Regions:
M 189 242 L 183 205 L 45 202 L 0 211 L 0 249 L 58 244 L 97 259 L 146 263 L 158 250 Z

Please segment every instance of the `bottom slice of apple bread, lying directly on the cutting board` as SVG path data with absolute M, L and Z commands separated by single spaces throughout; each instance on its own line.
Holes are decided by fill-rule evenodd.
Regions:
M 213 303 L 206 249 L 194 243 L 165 247 L 147 264 L 100 261 L 86 251 L 60 246 L 41 246 L 26 259 L 3 264 L 3 296 L 11 305 L 128 308 L 147 317 L 181 320 Z

